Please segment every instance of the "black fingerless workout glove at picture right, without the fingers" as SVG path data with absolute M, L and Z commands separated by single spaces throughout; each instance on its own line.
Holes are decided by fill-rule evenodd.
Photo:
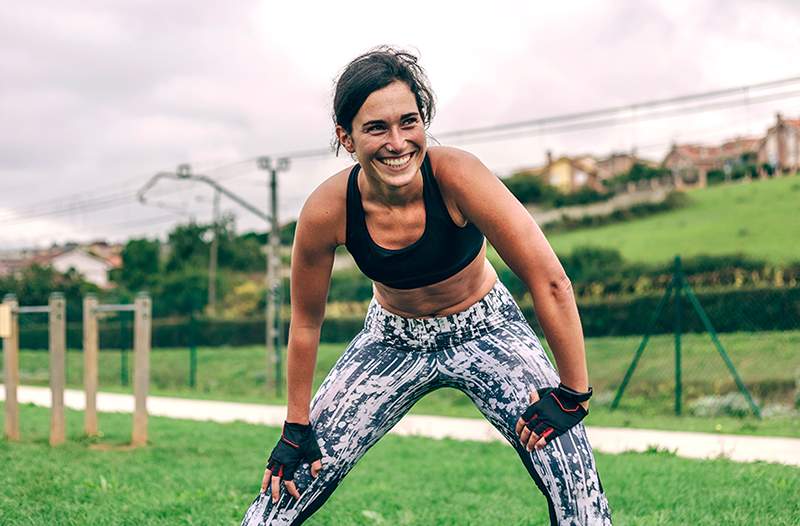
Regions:
M 569 431 L 588 414 L 580 404 L 592 397 L 591 387 L 586 393 L 579 393 L 558 384 L 558 387 L 537 389 L 536 392 L 539 400 L 522 413 L 522 420 L 528 429 L 545 439 L 545 444 Z

